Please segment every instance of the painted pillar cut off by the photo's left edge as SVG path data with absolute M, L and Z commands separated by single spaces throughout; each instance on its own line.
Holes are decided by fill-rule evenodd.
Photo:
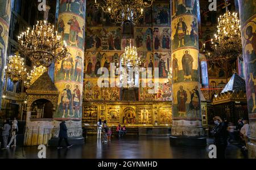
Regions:
M 11 0 L 0 0 L 0 109 L 2 107 L 3 75 L 7 57 L 10 18 Z

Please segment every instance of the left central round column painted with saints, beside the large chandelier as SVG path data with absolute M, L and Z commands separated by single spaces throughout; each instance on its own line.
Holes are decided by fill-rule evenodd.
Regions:
M 67 42 L 67 57 L 55 65 L 55 86 L 60 91 L 54 126 L 67 121 L 68 136 L 81 139 L 84 68 L 85 0 L 60 1 L 57 31 Z M 58 10 L 57 10 L 58 11 Z M 83 140 L 82 140 L 83 142 Z

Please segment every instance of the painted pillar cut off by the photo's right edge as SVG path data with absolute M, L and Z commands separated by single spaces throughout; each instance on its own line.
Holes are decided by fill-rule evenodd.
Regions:
M 239 10 L 250 123 L 250 142 L 246 147 L 249 158 L 256 158 L 256 2 L 239 0 Z

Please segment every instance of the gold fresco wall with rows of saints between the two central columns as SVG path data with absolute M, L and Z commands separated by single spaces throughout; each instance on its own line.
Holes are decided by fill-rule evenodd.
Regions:
M 92 0 L 86 2 L 84 100 L 118 101 L 121 100 L 119 88 L 97 86 L 98 77 L 101 76 L 97 70 L 106 67 L 110 71 L 110 63 L 115 63 L 118 68 L 129 40 L 123 39 L 121 25 L 115 24 L 108 15 L 95 9 L 93 3 Z M 171 101 L 171 84 L 167 83 L 171 69 L 170 3 L 154 3 L 145 9 L 144 14 L 144 19 L 134 27 L 131 44 L 137 47 L 142 66 L 153 69 L 159 67 L 160 86 L 156 94 L 148 94 L 148 87 L 141 86 L 141 82 L 148 80 L 140 79 L 138 98 L 141 101 Z

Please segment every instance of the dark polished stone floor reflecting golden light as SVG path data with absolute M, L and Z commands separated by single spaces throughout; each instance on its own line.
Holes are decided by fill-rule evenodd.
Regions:
M 212 139 L 208 139 L 208 146 Z M 208 158 L 207 147 L 175 147 L 170 146 L 168 136 L 126 136 L 112 138 L 110 143 L 103 144 L 95 136 L 88 136 L 85 145 L 73 146 L 57 150 L 56 147 L 47 147 L 46 158 L 74 158 L 74 159 L 157 159 L 157 158 Z M 32 147 L 16 147 L 9 150 L 0 150 L 0 158 L 38 158 L 38 149 Z M 245 158 L 240 148 L 228 145 L 226 158 Z

